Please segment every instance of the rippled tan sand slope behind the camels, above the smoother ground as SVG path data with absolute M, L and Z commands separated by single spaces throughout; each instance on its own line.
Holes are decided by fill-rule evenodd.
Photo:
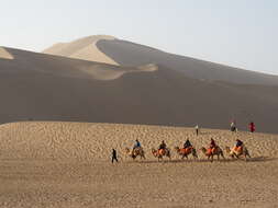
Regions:
M 49 160 L 107 160 L 111 149 L 119 151 L 121 159 L 127 159 L 124 148 L 131 148 L 140 139 L 148 160 L 156 160 L 151 148 L 157 148 L 165 140 L 173 150 L 181 146 L 189 137 L 197 149 L 207 147 L 213 137 L 220 147 L 233 146 L 241 138 L 253 157 L 278 157 L 277 135 L 246 132 L 231 134 L 225 130 L 202 129 L 200 137 L 193 136 L 193 129 L 141 126 L 111 125 L 89 123 L 14 123 L 0 126 L 0 158 L 4 159 L 49 159 Z M 201 157 L 201 152 L 198 152 Z M 173 152 L 174 158 L 177 155 Z

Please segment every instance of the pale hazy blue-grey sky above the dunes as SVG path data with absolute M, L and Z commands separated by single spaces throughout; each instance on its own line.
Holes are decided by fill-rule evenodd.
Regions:
M 1 46 L 96 34 L 278 74 L 278 0 L 0 0 Z

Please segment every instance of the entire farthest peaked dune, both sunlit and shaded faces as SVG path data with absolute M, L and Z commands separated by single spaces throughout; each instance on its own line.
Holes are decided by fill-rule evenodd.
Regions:
M 77 47 L 81 49 L 76 53 Z M 278 77 L 254 71 L 247 71 L 233 67 L 227 67 L 210 61 L 199 60 L 190 57 L 168 54 L 144 45 L 116 39 L 108 36 L 89 36 L 77 39 L 69 44 L 59 45 L 62 49 L 56 49 L 57 45 L 44 50 L 44 53 L 80 58 L 86 60 L 96 60 L 108 63 L 119 63 L 121 66 L 141 66 L 157 63 L 168 69 L 178 70 L 188 78 L 225 81 L 241 84 L 263 84 L 278 85 Z M 64 49 L 65 48 L 65 49 Z M 105 59 L 98 58 L 105 56 Z M 73 53 L 76 54 L 73 56 Z M 78 54 L 78 55 L 77 55 Z M 111 61 L 112 60 L 112 61 Z

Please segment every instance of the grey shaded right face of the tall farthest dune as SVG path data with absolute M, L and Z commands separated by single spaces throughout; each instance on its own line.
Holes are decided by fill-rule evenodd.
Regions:
M 247 71 L 224 65 L 168 54 L 152 47 L 121 39 L 101 39 L 98 48 L 121 66 L 157 63 L 175 69 L 189 78 L 226 81 L 241 84 L 278 85 L 278 77 Z

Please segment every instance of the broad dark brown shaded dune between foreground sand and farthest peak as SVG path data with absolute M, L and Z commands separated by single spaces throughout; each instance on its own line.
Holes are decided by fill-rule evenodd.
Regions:
M 277 86 L 187 78 L 163 66 L 119 67 L 5 48 L 0 122 L 75 120 L 278 132 Z

